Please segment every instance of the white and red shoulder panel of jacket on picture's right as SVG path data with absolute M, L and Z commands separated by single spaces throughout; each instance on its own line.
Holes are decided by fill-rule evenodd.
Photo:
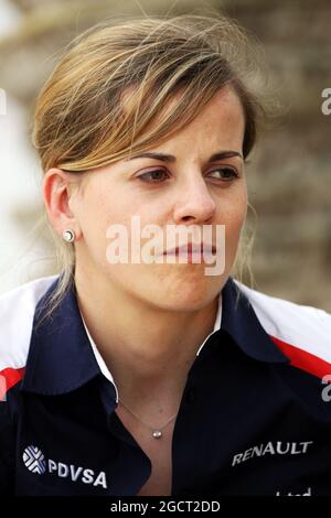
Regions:
M 261 326 L 292 364 L 319 375 L 331 363 L 331 314 L 268 295 L 235 280 Z

